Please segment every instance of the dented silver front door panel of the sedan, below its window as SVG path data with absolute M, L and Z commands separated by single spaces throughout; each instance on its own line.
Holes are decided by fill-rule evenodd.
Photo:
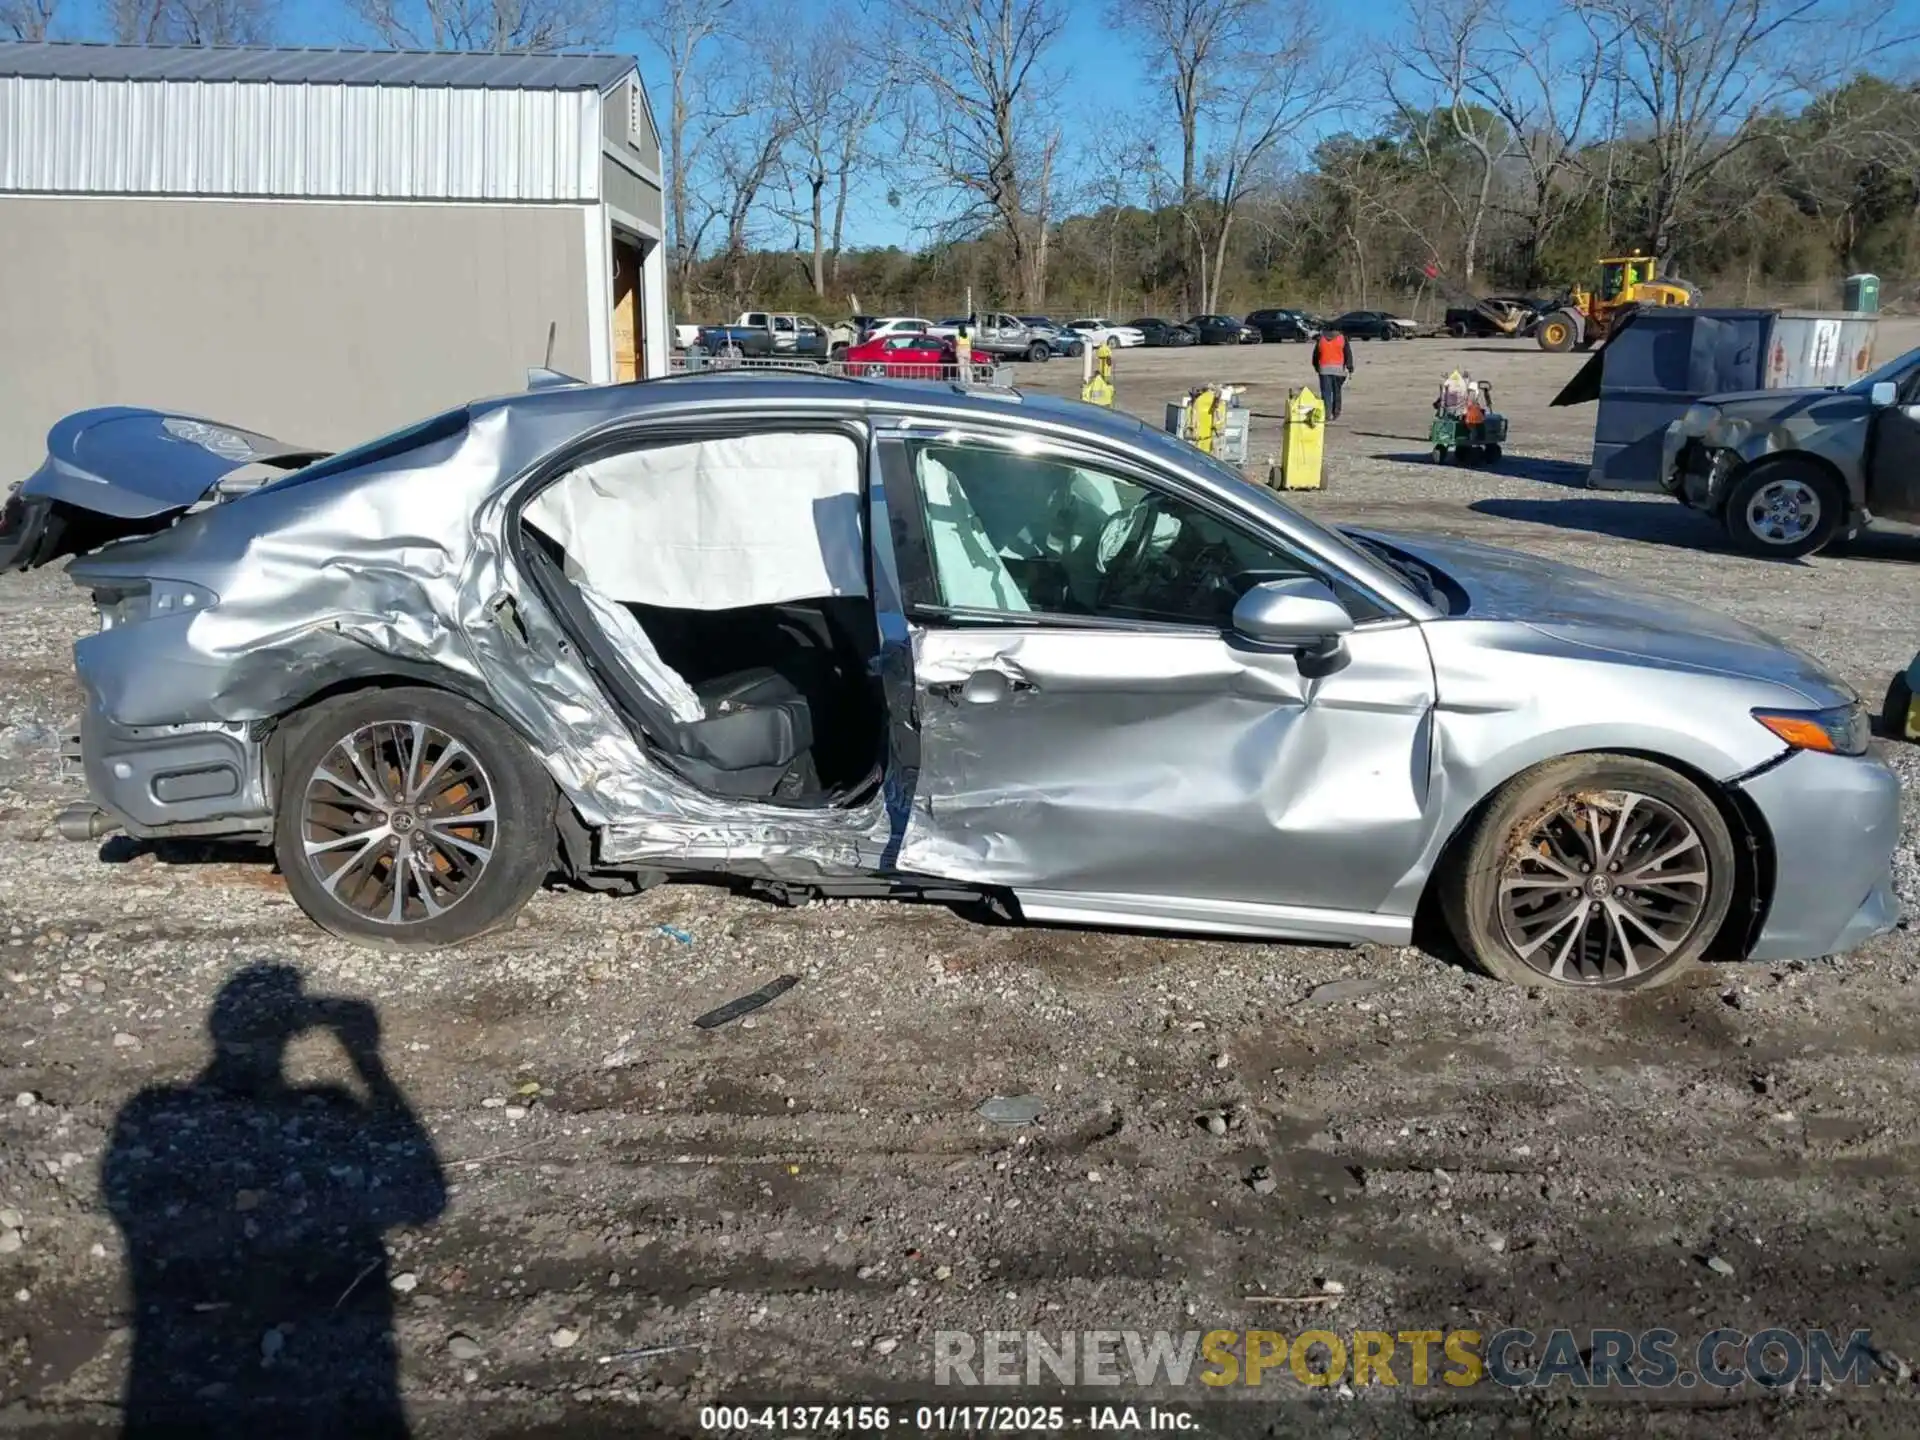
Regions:
M 1029 914 L 1371 912 L 1428 837 L 1419 626 L 1356 632 L 1321 676 L 1221 634 L 916 628 L 914 680 L 904 860 Z

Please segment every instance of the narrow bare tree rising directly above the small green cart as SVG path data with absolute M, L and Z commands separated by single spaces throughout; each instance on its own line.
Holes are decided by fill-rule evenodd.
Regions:
M 1505 117 L 1478 94 L 1494 0 L 1407 0 L 1402 35 L 1380 79 L 1407 144 L 1459 227 L 1459 273 L 1471 286 L 1494 182 L 1513 148 Z

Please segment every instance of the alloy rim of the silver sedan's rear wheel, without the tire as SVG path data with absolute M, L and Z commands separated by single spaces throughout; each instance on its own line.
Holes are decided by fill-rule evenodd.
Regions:
M 301 849 L 321 889 L 382 925 L 467 899 L 493 860 L 493 781 L 459 739 L 420 720 L 361 726 L 321 758 Z

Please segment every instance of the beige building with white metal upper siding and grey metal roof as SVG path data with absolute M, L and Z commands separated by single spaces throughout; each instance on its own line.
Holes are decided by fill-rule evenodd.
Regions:
M 628 56 L 0 44 L 0 480 L 84 405 L 340 445 L 666 369 Z

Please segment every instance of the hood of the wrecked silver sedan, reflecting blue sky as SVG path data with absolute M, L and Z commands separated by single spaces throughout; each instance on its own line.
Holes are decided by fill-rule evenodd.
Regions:
M 1617 586 L 1592 570 L 1440 536 L 1356 532 L 1465 591 L 1463 620 L 1507 620 L 1594 653 L 1784 685 L 1811 708 L 1859 695 L 1782 639 L 1703 605 Z M 1457 607 L 1457 603 L 1455 603 Z M 1444 622 L 1442 622 L 1444 624 Z

